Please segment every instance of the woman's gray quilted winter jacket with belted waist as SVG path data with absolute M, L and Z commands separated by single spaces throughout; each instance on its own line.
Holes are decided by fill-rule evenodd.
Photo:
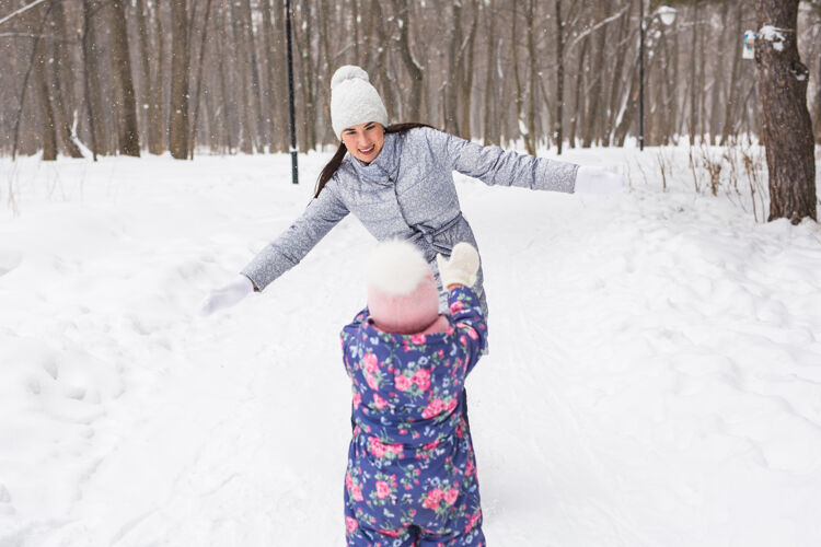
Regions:
M 382 150 L 369 165 L 346 155 L 320 196 L 242 274 L 258 290 L 265 289 L 352 212 L 379 241 L 401 237 L 416 243 L 439 283 L 437 253 L 450 256 L 459 242 L 478 248 L 462 217 L 453 171 L 488 185 L 573 193 L 577 170 L 576 164 L 482 147 L 425 127 L 386 133 Z M 444 310 L 447 295 L 439 284 Z M 487 313 L 481 268 L 474 289 Z

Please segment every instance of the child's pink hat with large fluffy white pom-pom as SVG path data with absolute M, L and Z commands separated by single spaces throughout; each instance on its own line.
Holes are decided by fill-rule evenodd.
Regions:
M 430 266 L 413 243 L 380 243 L 368 261 L 368 309 L 380 330 L 409 335 L 439 318 L 439 291 Z

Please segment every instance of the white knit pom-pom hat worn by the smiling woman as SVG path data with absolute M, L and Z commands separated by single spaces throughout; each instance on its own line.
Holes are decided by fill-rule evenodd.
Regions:
M 342 139 L 344 129 L 378 121 L 388 126 L 388 110 L 368 72 L 354 65 L 339 67 L 331 79 L 331 125 Z

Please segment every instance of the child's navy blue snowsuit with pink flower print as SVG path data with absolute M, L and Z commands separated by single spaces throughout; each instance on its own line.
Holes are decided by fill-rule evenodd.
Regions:
M 396 335 L 362 310 L 342 333 L 354 391 L 345 475 L 349 546 L 484 546 L 464 380 L 482 356 L 479 299 L 448 294 L 442 333 Z

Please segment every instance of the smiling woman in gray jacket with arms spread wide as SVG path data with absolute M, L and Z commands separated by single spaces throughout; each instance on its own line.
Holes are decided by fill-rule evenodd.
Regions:
M 212 291 L 203 314 L 232 306 L 296 266 L 349 212 L 380 241 L 416 244 L 432 268 L 447 310 L 447 291 L 435 257 L 456 243 L 478 248 L 462 216 L 453 171 L 488 185 L 565 193 L 616 194 L 621 176 L 597 167 L 481 147 L 423 124 L 389 125 L 368 73 L 339 68 L 331 81 L 331 121 L 340 144 L 320 175 L 314 199 L 297 221 L 267 245 L 240 276 Z M 487 315 L 479 267 L 474 290 Z

